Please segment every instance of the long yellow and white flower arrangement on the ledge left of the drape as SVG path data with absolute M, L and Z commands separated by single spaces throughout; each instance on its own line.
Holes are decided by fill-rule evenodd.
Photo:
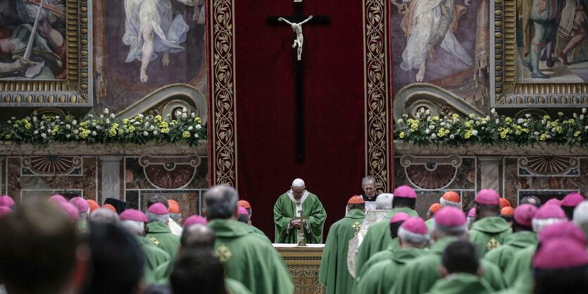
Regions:
M 6 121 L 0 128 L 0 140 L 17 142 L 132 142 L 144 144 L 156 142 L 187 142 L 198 145 L 206 139 L 206 128 L 194 113 L 187 109 L 178 110 L 176 118 L 168 115 L 164 119 L 157 113 L 144 116 L 139 114 L 132 119 L 120 119 L 108 109 L 99 117 L 88 114 L 85 118 L 75 119 L 68 114 L 60 116 L 42 115 Z

